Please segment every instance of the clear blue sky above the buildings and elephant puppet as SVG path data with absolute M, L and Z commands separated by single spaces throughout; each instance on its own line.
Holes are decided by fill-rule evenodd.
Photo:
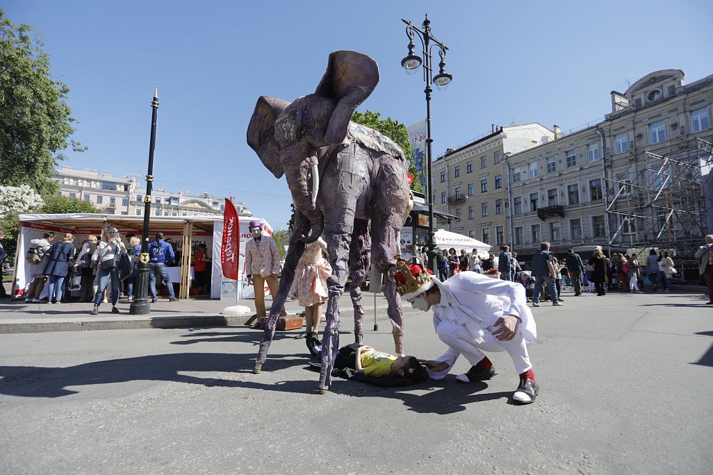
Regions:
M 63 165 L 143 177 L 150 100 L 159 86 L 157 187 L 235 196 L 279 228 L 289 190 L 245 143 L 260 95 L 311 93 L 329 52 L 361 51 L 381 82 L 360 110 L 411 125 L 424 83 L 401 68 L 401 18 L 450 48 L 453 83 L 432 101 L 434 157 L 491 130 L 540 122 L 563 130 L 610 110 L 610 90 L 643 75 L 713 74 L 713 2 L 679 1 L 51 1 L 5 0 L 41 31 L 52 73 L 71 89 L 75 140 Z

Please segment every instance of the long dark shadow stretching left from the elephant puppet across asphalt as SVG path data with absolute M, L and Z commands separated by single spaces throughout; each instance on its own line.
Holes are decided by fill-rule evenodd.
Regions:
M 276 360 L 275 358 L 280 358 Z M 291 359 L 287 359 L 291 358 Z M 303 365 L 294 355 L 270 355 L 266 371 Z M 66 387 L 106 385 L 140 380 L 175 381 L 194 385 L 245 387 L 267 391 L 313 393 L 313 380 L 263 384 L 251 380 L 223 380 L 181 375 L 180 372 L 245 373 L 255 355 L 234 353 L 173 353 L 105 360 L 70 367 L 0 366 L 0 394 L 22 397 L 63 397 L 78 393 Z

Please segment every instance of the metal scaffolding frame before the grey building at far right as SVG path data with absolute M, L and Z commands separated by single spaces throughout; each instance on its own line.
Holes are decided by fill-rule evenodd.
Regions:
M 607 170 L 614 174 L 607 184 L 615 191 L 607 213 L 618 224 L 610 246 L 617 242 L 632 249 L 665 249 L 691 259 L 707 234 L 711 204 L 704 186 L 711 186 L 711 150 L 710 142 L 698 139 L 695 148 L 679 147 L 665 155 L 644 152 Z

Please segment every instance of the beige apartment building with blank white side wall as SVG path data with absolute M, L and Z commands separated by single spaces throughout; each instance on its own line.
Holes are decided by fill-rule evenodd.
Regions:
M 507 155 L 553 140 L 538 123 L 495 127 L 490 134 L 448 149 L 432 165 L 434 204 L 456 219 L 448 230 L 498 246 L 509 245 Z

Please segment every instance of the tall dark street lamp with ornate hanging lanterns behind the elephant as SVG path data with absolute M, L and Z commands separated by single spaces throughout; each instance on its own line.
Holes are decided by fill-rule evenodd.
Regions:
M 426 83 L 426 160 L 428 161 L 426 165 L 426 189 L 428 194 L 429 203 L 429 251 L 431 254 L 429 256 L 429 268 L 431 271 L 436 272 L 436 256 L 434 250 L 436 246 L 434 244 L 434 196 L 433 196 L 433 177 L 431 177 L 431 149 L 433 147 L 434 140 L 431 139 L 431 85 L 435 85 L 438 90 L 444 90 L 448 87 L 448 84 L 453 80 L 453 76 L 446 73 L 446 51 L 448 48 L 446 45 L 438 41 L 431 34 L 431 21 L 429 21 L 429 16 L 426 15 L 424 24 L 422 28 L 414 25 L 411 21 L 401 19 L 406 24 L 406 36 L 409 37 L 409 54 L 406 55 L 404 59 L 401 60 L 401 66 L 406 69 L 406 73 L 414 74 L 419 66 L 424 68 L 424 82 Z M 421 56 L 414 53 L 414 36 L 418 36 L 421 40 L 421 45 L 424 47 Z M 433 44 L 431 44 L 433 43 Z M 438 74 L 433 75 L 433 69 L 431 68 L 431 48 L 433 46 L 438 46 L 438 55 L 441 56 L 441 61 L 438 63 Z

